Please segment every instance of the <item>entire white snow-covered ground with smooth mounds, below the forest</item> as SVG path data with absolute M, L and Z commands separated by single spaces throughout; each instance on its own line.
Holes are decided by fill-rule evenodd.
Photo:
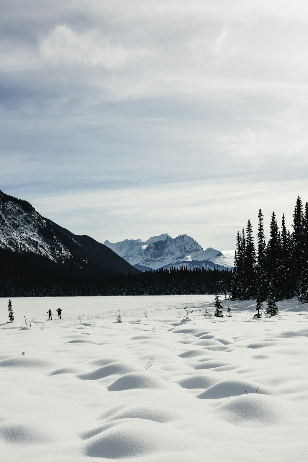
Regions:
M 204 317 L 204 295 L 12 298 L 6 324 L 7 302 L 1 462 L 308 460 L 307 305 L 253 320 L 230 300 L 232 318 Z

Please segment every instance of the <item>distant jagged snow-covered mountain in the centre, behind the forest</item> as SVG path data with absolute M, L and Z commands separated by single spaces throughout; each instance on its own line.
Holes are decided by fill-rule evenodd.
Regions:
M 126 239 L 111 243 L 105 241 L 109 249 L 141 271 L 170 267 L 232 268 L 233 263 L 222 252 L 209 247 L 203 250 L 200 244 L 187 234 L 174 239 L 168 233 L 141 239 Z

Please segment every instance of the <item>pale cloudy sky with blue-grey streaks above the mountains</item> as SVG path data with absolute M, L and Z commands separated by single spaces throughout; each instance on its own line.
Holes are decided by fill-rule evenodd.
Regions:
M 307 1 L 2 1 L 0 189 L 99 242 L 268 237 L 308 200 L 307 50 Z

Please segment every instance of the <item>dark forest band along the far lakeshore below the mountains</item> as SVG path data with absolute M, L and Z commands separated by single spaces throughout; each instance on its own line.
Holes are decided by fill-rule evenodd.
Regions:
M 0 297 L 229 293 L 232 279 L 228 269 L 184 266 L 126 275 L 7 249 L 0 249 L 0 261 Z

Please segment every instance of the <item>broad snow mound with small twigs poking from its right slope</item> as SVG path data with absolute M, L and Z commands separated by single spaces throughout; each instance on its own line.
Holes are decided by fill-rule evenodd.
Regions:
M 239 396 L 245 394 L 256 394 L 259 384 L 251 382 L 249 380 L 238 380 L 238 379 L 226 379 L 215 383 L 207 390 L 203 391 L 198 395 L 201 399 L 217 399 L 226 398 L 228 396 Z M 245 391 L 246 390 L 246 391 Z M 246 393 L 247 392 L 247 393 Z M 272 395 L 272 389 L 262 385 L 259 387 L 258 392 L 260 394 Z

